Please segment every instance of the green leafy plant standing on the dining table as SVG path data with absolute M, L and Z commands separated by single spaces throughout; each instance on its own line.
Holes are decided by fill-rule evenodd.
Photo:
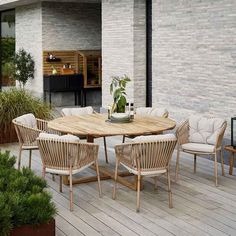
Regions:
M 130 78 L 127 75 L 122 77 L 114 76 L 112 77 L 112 82 L 110 84 L 110 94 L 113 95 L 113 105 L 112 112 L 125 112 L 126 105 L 126 84 L 130 82 Z

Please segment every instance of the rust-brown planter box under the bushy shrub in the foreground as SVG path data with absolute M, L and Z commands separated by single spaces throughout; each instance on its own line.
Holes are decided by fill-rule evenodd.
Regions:
M 11 231 L 10 236 L 55 236 L 55 219 L 48 224 L 23 225 Z

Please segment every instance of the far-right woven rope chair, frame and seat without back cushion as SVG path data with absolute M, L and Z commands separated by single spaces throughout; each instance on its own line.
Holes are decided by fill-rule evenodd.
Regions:
M 197 168 L 197 155 L 210 155 L 214 156 L 214 176 L 215 176 L 215 186 L 218 186 L 218 163 L 217 163 L 217 154 L 220 152 L 220 159 L 221 159 L 221 171 L 222 175 L 224 176 L 224 159 L 223 159 L 223 154 L 222 154 L 222 140 L 224 137 L 225 129 L 227 127 L 227 122 L 224 121 L 218 134 L 216 137 L 216 142 L 214 145 L 209 145 L 209 144 L 200 144 L 200 148 L 198 150 L 193 150 L 191 148 L 187 148 L 183 145 L 185 144 L 190 144 L 189 136 L 190 136 L 190 126 L 189 126 L 189 119 L 184 121 L 176 130 L 176 136 L 178 139 L 177 142 L 177 157 L 176 157 L 176 169 L 175 169 L 175 181 L 177 182 L 179 179 L 179 157 L 180 157 L 180 152 L 186 152 L 194 155 L 194 173 L 196 173 L 196 168 Z M 207 150 L 205 147 L 207 147 L 209 150 Z

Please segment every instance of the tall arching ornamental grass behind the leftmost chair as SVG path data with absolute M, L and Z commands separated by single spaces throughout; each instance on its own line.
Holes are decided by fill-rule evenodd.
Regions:
M 51 118 L 50 106 L 23 89 L 0 93 L 0 124 L 10 124 L 14 118 L 26 113 L 41 119 Z

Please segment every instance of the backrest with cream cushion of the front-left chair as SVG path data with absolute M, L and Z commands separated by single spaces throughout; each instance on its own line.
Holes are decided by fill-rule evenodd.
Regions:
M 75 136 L 69 135 L 68 138 L 66 137 L 68 135 L 58 137 L 54 135 L 52 138 L 40 136 L 37 138 L 37 143 L 44 168 L 80 169 L 91 164 L 98 157 L 97 144 L 80 143 Z

